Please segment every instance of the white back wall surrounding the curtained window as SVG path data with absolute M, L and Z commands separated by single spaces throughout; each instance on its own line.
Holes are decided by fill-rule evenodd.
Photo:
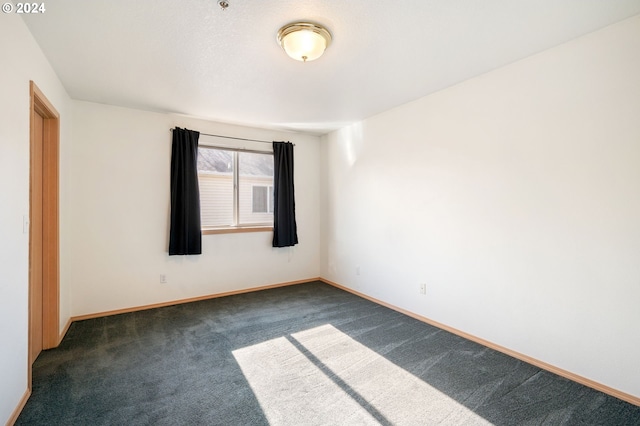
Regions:
M 73 101 L 73 315 L 105 312 L 316 278 L 320 139 Z M 171 133 L 289 140 L 295 147 L 300 244 L 272 248 L 272 233 L 203 235 L 200 256 L 168 256 Z M 200 143 L 270 149 L 201 136 Z M 167 283 L 160 283 L 166 274 Z

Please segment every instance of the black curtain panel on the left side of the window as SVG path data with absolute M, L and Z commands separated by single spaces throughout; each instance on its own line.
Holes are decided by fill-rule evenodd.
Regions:
M 171 230 L 169 255 L 202 254 L 198 138 L 200 133 L 173 129 L 171 147 Z

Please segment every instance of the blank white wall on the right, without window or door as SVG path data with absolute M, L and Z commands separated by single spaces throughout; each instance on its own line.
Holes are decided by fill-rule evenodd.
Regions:
M 639 120 L 637 16 L 334 132 L 322 276 L 640 397 Z

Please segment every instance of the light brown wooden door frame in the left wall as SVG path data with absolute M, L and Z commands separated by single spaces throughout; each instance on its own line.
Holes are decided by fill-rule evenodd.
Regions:
M 30 95 L 30 154 L 35 147 L 35 114 L 44 118 L 42 165 L 42 348 L 51 349 L 60 344 L 60 236 L 59 236 L 59 153 L 60 114 L 33 81 L 29 82 Z M 30 180 L 33 179 L 33 165 Z M 29 202 L 34 194 L 29 190 Z M 31 209 L 29 212 L 31 216 Z M 29 259 L 31 264 L 31 258 Z M 31 356 L 31 274 L 29 276 L 29 348 Z M 31 364 L 29 363 L 29 382 Z

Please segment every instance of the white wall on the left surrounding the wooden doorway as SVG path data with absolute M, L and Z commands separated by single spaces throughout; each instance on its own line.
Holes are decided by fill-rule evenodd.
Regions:
M 70 144 L 69 97 L 18 15 L 0 16 L 0 424 L 27 390 L 29 235 L 29 80 L 60 113 L 60 198 L 68 197 L 65 173 Z M 67 254 L 61 212 L 61 257 Z M 60 322 L 70 316 L 68 268 L 61 261 Z

